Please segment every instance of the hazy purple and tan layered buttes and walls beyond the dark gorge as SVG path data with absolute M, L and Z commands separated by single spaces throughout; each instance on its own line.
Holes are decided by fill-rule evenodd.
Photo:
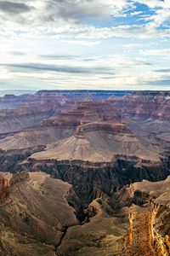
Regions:
M 72 95 L 77 93 L 81 94 L 41 91 L 34 96 L 27 96 L 26 101 L 21 101 L 17 108 L 10 110 L 11 112 L 4 113 L 3 110 L 0 133 L 7 133 L 2 136 L 7 137 L 8 133 L 13 135 L 11 133 L 22 131 L 1 140 L 0 148 L 8 150 L 44 145 L 47 146 L 42 155 L 45 159 L 51 157 L 57 160 L 91 162 L 108 162 L 118 158 L 138 159 L 139 165 L 155 164 L 159 162 L 161 155 L 167 154 L 169 133 L 150 136 L 150 131 L 159 131 L 160 127 L 168 131 L 170 127 L 167 123 L 161 124 L 162 120 L 156 113 L 159 104 L 165 113 L 168 112 L 168 108 L 163 107 L 169 102 L 166 93 L 132 92 L 122 97 L 114 96 L 103 102 L 92 100 L 91 94 L 88 93 L 85 100 L 71 102 Z M 82 92 L 82 95 L 84 93 Z M 102 95 L 103 92 L 99 93 Z M 94 95 L 94 92 L 92 94 Z M 108 92 L 109 94 L 111 92 Z M 139 119 L 135 121 L 137 117 Z M 159 122 L 153 121 L 156 118 Z M 143 119 L 147 119 L 149 123 Z M 130 126 L 131 131 L 122 120 Z M 28 126 L 33 128 L 23 130 Z M 114 133 L 115 137 L 111 136 L 111 133 Z M 65 138 L 68 138 L 68 141 L 65 141 Z M 63 141 L 60 143 L 59 140 Z M 69 152 L 66 152 L 66 145 Z

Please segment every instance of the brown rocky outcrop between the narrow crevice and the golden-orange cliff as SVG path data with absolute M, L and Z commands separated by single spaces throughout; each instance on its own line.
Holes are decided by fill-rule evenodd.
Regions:
M 105 196 L 92 201 L 82 225 L 67 230 L 56 253 L 59 256 L 125 256 L 122 233 L 127 230 L 127 218 L 122 212 L 119 214 L 115 214 Z

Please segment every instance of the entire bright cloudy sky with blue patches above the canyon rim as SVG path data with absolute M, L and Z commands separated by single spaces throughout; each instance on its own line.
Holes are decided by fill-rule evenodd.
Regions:
M 170 0 L 0 0 L 0 90 L 170 90 Z

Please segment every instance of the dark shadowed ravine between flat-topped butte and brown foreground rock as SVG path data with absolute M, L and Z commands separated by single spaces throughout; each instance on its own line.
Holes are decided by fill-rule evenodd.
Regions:
M 117 188 L 141 181 L 159 181 L 170 174 L 170 160 L 157 166 L 136 166 L 128 160 L 90 165 L 81 161 L 33 160 L 17 166 L 19 171 L 47 172 L 52 177 L 71 183 L 83 205 L 88 205 L 100 192 L 111 195 Z

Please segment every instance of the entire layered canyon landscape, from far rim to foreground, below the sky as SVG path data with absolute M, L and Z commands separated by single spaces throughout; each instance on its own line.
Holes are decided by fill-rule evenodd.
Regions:
M 1 256 L 170 255 L 170 92 L 0 97 Z

